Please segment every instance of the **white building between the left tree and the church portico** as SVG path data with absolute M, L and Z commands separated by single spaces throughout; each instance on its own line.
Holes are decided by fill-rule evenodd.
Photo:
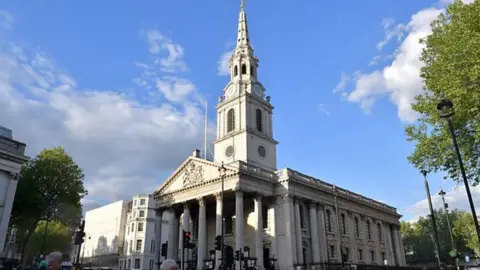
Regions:
M 155 215 L 151 195 L 87 211 L 80 262 L 92 267 L 153 269 L 159 244 L 155 242 Z

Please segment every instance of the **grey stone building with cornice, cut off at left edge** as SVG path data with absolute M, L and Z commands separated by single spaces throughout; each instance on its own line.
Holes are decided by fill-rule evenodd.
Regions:
M 26 145 L 13 139 L 12 130 L 0 126 L 0 258 L 15 253 L 10 244 L 5 243 L 12 212 L 18 176 L 25 156 Z

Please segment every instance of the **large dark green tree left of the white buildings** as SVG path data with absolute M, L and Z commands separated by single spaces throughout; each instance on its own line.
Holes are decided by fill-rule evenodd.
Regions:
M 86 195 L 83 178 L 83 170 L 61 147 L 43 150 L 22 167 L 11 224 L 18 229 L 23 256 L 40 221 L 78 224 Z

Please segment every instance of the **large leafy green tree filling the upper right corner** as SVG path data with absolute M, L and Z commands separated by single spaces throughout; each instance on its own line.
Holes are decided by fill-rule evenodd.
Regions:
M 454 103 L 453 123 L 468 179 L 480 182 L 480 0 L 464 4 L 456 0 L 432 23 L 425 45 L 420 76 L 425 91 L 412 107 L 418 123 L 406 127 L 408 141 L 416 142 L 408 157 L 418 169 L 446 172 L 460 181 L 457 157 L 445 121 L 436 105 L 442 98 Z

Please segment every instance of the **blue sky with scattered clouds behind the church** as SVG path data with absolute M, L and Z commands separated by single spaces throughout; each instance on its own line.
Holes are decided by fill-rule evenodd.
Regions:
M 215 115 L 228 82 L 221 63 L 239 1 L 48 3 L 0 3 L 0 52 L 10 61 L 0 65 L 9 86 L 0 124 L 30 155 L 64 145 L 86 170 L 86 204 L 152 192 L 201 147 L 202 104 Z M 388 203 L 407 220 L 423 214 L 403 130 L 421 91 L 415 41 L 445 3 L 302 3 L 246 4 L 259 80 L 275 106 L 278 167 Z M 451 187 L 431 182 L 432 192 Z M 451 200 L 464 208 L 461 191 Z

